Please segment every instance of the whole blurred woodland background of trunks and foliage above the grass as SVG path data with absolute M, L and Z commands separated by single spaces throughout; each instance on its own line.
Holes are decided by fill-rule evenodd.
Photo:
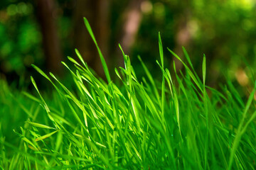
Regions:
M 83 17 L 90 22 L 112 74 L 123 63 L 120 43 L 138 77 L 144 72 L 137 55 L 157 77 L 160 31 L 166 67 L 171 68 L 175 60 L 166 47 L 182 58 L 184 46 L 199 75 L 206 54 L 208 85 L 217 86 L 225 77 L 239 86 L 252 84 L 255 0 L 1 0 L 1 79 L 14 86 L 28 86 L 30 75 L 41 81 L 31 64 L 65 77 L 60 61 L 77 58 L 75 48 L 104 77 Z M 183 69 L 179 62 L 176 69 Z

